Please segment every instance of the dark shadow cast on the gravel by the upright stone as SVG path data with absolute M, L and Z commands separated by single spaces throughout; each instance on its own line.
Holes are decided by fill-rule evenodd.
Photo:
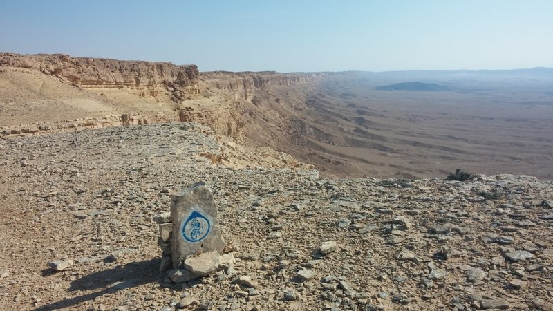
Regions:
M 54 310 L 71 308 L 74 305 L 91 301 L 97 296 L 106 293 L 118 292 L 126 288 L 134 288 L 147 283 L 158 281 L 160 258 L 153 258 L 147 261 L 132 262 L 126 265 L 118 265 L 108 270 L 94 272 L 71 282 L 68 292 L 91 291 L 89 294 L 73 296 L 71 298 L 43 305 L 34 309 L 35 311 Z M 102 289 L 102 290 L 98 290 Z

